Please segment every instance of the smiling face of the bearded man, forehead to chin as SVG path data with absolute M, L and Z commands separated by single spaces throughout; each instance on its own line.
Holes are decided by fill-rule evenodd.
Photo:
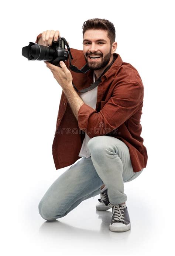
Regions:
M 106 67 L 112 58 L 111 44 L 107 31 L 86 30 L 83 36 L 83 53 L 90 69 L 98 70 Z

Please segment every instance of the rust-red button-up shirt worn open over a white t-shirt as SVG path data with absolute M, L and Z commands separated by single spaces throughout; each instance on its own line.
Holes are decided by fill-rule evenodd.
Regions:
M 36 43 L 40 37 L 41 34 Z M 72 65 L 82 68 L 86 64 L 83 51 L 71 48 L 71 53 Z M 83 104 L 78 111 L 78 121 L 62 91 L 52 145 L 56 170 L 81 158 L 78 155 L 85 133 L 90 138 L 107 135 L 123 141 L 129 148 L 134 172 L 146 167 L 147 149 L 140 136 L 144 86 L 130 63 L 123 62 L 118 53 L 114 53 L 114 58 L 113 65 L 98 85 L 96 109 Z M 69 60 L 65 64 L 69 69 Z M 78 90 L 93 83 L 93 70 L 85 74 L 70 71 Z

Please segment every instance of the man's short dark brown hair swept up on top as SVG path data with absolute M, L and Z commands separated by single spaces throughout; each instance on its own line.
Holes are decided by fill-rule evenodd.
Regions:
M 110 39 L 110 43 L 112 44 L 113 42 L 115 42 L 116 30 L 115 30 L 114 24 L 111 23 L 109 20 L 98 19 L 98 18 L 86 20 L 83 23 L 82 29 L 83 29 L 83 36 L 84 36 L 86 30 L 88 30 L 88 29 L 106 30 L 108 32 L 107 36 Z

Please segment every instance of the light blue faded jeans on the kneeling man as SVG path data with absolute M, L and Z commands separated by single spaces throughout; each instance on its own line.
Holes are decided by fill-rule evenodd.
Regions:
M 124 182 L 134 180 L 143 169 L 134 173 L 129 149 L 123 141 L 111 136 L 93 137 L 88 142 L 91 157 L 82 157 L 61 174 L 39 203 L 43 219 L 64 217 L 83 200 L 100 194 L 105 184 L 111 204 L 124 203 Z

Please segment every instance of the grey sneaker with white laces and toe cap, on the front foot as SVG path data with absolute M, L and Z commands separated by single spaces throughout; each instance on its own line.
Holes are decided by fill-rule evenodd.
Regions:
M 112 206 L 112 219 L 109 229 L 112 232 L 124 232 L 131 228 L 130 217 L 126 204 L 111 204 Z

